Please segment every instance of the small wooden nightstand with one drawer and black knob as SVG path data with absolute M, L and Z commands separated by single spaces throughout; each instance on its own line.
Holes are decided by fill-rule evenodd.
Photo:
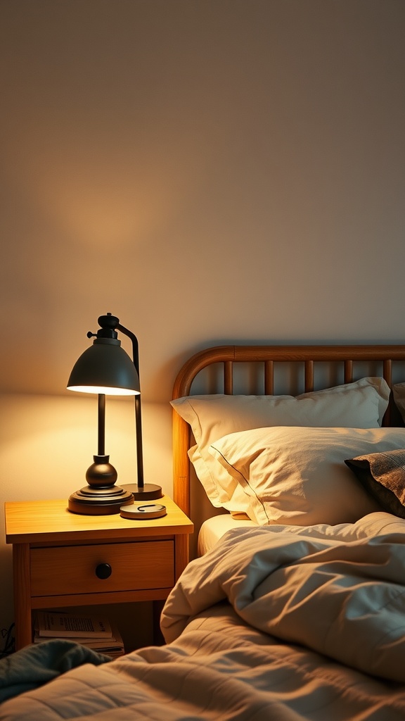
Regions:
M 33 609 L 164 601 L 187 565 L 193 526 L 171 498 L 161 503 L 167 515 L 148 521 L 81 516 L 66 500 L 5 504 L 16 650 L 32 642 Z

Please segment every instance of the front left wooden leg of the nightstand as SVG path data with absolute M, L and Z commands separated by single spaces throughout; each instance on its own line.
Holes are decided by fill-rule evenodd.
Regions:
M 15 648 L 32 642 L 30 546 L 13 545 Z

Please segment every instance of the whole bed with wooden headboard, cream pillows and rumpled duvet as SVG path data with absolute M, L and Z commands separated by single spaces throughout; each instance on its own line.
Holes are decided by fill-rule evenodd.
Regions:
M 403 720 L 404 381 L 404 345 L 184 363 L 174 500 L 200 531 L 166 645 L 27 647 L 1 668 L 0 721 Z

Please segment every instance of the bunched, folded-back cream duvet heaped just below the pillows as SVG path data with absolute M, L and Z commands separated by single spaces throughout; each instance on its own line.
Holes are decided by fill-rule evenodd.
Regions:
M 226 598 L 261 631 L 405 684 L 405 523 L 391 519 L 228 531 L 179 580 L 166 640 Z

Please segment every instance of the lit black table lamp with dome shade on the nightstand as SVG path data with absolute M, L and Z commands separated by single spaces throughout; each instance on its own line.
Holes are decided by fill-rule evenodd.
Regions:
M 162 497 L 161 487 L 143 482 L 141 388 L 139 384 L 138 340 L 120 324 L 111 313 L 100 316 L 93 344 L 74 364 L 68 380 L 68 389 L 98 395 L 98 448 L 94 463 L 86 472 L 88 485 L 72 493 L 68 509 L 84 515 L 120 513 L 123 506 L 134 499 L 153 500 Z M 127 335 L 133 347 L 133 360 L 121 348 L 117 331 Z M 105 454 L 105 397 L 106 395 L 133 395 L 135 400 L 135 432 L 137 479 L 135 484 L 115 485 L 117 471 Z

